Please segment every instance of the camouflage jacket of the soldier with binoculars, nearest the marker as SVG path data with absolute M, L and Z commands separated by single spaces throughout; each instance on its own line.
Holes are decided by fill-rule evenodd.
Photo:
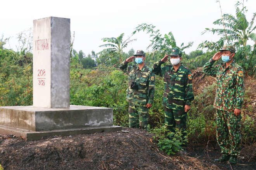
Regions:
M 126 99 L 133 105 L 146 106 L 152 104 L 155 93 L 155 74 L 152 70 L 144 65 L 139 70 L 137 65 L 128 66 L 128 62 L 123 61 L 119 68 L 128 75 L 128 89 Z M 131 82 L 137 82 L 138 89 L 131 88 Z

